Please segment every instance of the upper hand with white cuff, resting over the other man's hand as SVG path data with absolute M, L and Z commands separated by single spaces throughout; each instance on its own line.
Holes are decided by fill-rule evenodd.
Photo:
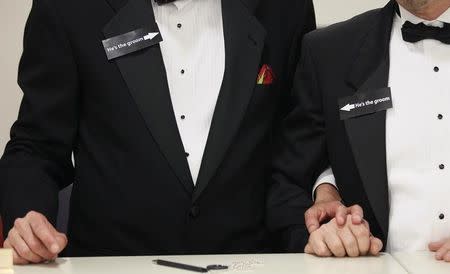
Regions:
M 329 184 L 323 184 L 316 190 L 316 201 L 305 213 L 305 223 L 309 233 L 319 229 L 320 224 L 336 219 L 340 226 L 345 225 L 347 215 L 351 215 L 351 222 L 355 225 L 361 224 L 364 219 L 363 209 L 354 205 L 344 206 L 337 189 Z

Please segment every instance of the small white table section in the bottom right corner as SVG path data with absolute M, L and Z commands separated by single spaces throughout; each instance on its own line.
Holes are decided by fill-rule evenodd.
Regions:
M 395 259 L 411 274 L 450 274 L 450 263 L 436 261 L 434 253 L 395 253 Z

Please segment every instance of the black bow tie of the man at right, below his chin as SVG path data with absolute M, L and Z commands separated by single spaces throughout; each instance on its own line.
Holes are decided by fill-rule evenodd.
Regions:
M 424 23 L 413 24 L 406 21 L 402 27 L 403 40 L 416 43 L 425 39 L 441 41 L 450 44 L 450 24 L 445 23 L 443 28 L 427 26 Z

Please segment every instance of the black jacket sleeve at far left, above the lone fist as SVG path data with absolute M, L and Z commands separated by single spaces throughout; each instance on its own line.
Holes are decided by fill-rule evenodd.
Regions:
M 62 20 L 52 3 L 34 0 L 25 27 L 18 78 L 23 99 L 0 160 L 0 209 L 5 232 L 30 210 L 41 212 L 55 224 L 58 192 L 73 182 L 77 69 Z

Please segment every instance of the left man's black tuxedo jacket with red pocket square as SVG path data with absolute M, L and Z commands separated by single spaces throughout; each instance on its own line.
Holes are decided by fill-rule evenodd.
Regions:
M 150 0 L 35 0 L 24 98 L 0 162 L 6 229 L 29 210 L 55 222 L 57 193 L 75 182 L 69 256 L 267 248 L 272 140 L 298 55 L 290 49 L 315 27 L 312 1 L 281 2 L 222 1 L 225 76 L 194 187 L 159 45 L 112 61 L 102 46 L 156 31 Z M 272 85 L 256 85 L 264 64 Z

